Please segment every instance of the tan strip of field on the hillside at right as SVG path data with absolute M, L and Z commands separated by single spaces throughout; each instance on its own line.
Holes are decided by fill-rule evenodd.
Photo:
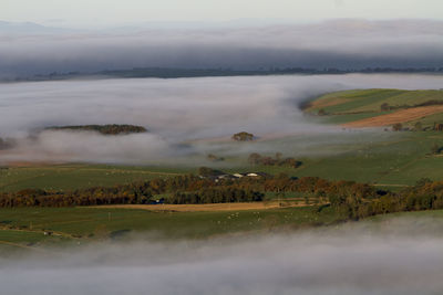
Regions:
M 387 115 L 354 120 L 351 123 L 343 124 L 342 126 L 349 128 L 382 127 L 382 126 L 393 125 L 396 123 L 405 123 L 410 120 L 420 119 L 422 117 L 437 113 L 443 113 L 443 105 L 422 106 L 422 107 L 401 109 L 395 113 Z

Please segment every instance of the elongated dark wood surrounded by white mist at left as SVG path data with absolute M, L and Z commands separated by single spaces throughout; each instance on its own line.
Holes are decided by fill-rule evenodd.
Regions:
M 143 126 L 135 125 L 78 125 L 78 126 L 52 126 L 45 129 L 49 130 L 81 130 L 81 131 L 97 131 L 103 135 L 121 135 L 121 134 L 137 134 L 147 133 Z

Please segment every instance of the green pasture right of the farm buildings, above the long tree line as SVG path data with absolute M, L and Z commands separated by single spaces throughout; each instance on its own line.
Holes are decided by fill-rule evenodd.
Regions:
M 280 172 L 293 177 L 354 180 L 399 190 L 421 178 L 443 180 L 443 155 L 431 155 L 434 144 L 443 147 L 443 133 L 383 131 L 382 140 L 349 141 L 322 147 L 329 154 L 300 157 L 297 169 L 275 166 L 244 166 L 231 171 Z M 371 136 L 371 135 L 368 135 Z M 318 150 L 317 150 L 318 151 Z M 385 186 L 384 186 L 385 185 Z

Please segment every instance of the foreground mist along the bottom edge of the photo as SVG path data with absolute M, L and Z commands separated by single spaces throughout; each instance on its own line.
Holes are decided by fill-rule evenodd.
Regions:
M 204 241 L 143 235 L 0 260 L 8 295 L 440 294 L 442 221 L 390 219 Z

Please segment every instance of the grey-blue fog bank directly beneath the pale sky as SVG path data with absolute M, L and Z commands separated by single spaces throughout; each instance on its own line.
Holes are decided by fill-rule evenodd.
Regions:
M 442 32 L 442 21 L 334 20 L 131 33 L 0 33 L 0 77 L 133 67 L 443 67 Z

